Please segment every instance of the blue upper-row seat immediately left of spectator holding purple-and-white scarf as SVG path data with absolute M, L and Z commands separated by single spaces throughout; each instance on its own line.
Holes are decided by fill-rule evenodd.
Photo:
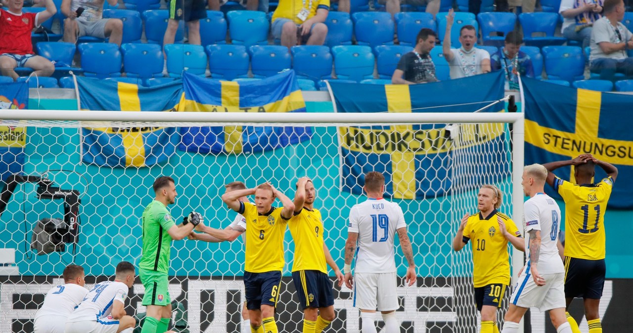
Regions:
M 523 42 L 527 46 L 544 47 L 548 45 L 563 45 L 565 37 L 555 37 L 558 26 L 558 13 L 522 13 L 518 20 L 523 27 Z M 533 36 L 534 33 L 544 33 L 545 36 Z

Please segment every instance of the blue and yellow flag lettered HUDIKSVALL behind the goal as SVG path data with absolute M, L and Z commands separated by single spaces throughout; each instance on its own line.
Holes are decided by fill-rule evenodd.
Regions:
M 502 99 L 501 72 L 423 85 L 365 85 L 330 81 L 336 112 L 474 112 Z M 480 112 L 499 112 L 503 102 Z M 472 138 L 454 145 L 446 124 L 341 127 L 341 188 L 363 193 L 364 174 L 385 176 L 386 197 L 422 199 L 446 195 L 451 189 L 451 152 L 470 148 L 477 164 L 491 168 L 473 173 L 473 185 L 494 183 L 486 175 L 503 174 L 507 149 L 503 124 L 486 130 L 468 126 Z M 461 128 L 464 130 L 465 128 Z M 480 135 L 484 133 L 485 135 Z M 454 147 L 455 146 L 455 147 Z M 498 161 L 498 162 L 495 162 Z M 497 170 L 499 169 L 499 170 Z M 468 190 L 468 189 L 463 189 Z

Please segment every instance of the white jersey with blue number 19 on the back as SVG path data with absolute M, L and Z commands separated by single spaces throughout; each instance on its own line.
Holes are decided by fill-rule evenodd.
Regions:
M 406 227 L 397 203 L 368 199 L 349 211 L 348 231 L 358 233 L 356 273 L 396 272 L 394 238 L 396 229 Z

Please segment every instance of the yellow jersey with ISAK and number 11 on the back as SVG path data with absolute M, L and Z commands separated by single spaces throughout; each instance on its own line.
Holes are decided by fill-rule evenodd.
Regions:
M 556 177 L 554 189 L 565 200 L 565 257 L 605 258 L 605 212 L 613 179 L 596 185 L 575 185 Z

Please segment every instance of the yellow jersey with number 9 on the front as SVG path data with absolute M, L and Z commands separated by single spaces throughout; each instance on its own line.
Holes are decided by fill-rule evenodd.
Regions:
M 321 212 L 318 209 L 309 210 L 304 207 L 288 221 L 288 229 L 294 241 L 292 272 L 310 269 L 327 274 Z

